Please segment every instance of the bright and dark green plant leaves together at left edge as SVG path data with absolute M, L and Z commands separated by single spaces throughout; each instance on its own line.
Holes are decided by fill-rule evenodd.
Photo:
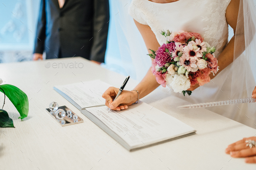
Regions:
M 0 91 L 4 94 L 3 106 L 5 104 L 5 96 L 7 96 L 20 113 L 19 118 L 24 119 L 27 117 L 29 101 L 22 90 L 13 85 L 0 85 Z M 13 120 L 9 117 L 7 111 L 3 110 L 3 107 L 0 109 L 0 127 L 14 127 Z

